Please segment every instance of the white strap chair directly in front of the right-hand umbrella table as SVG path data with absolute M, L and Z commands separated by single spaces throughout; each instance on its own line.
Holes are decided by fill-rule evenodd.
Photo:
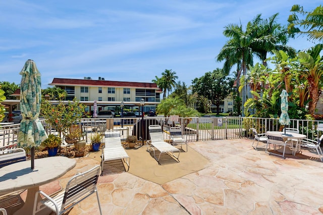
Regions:
M 295 148 L 293 148 L 293 141 L 289 139 L 284 141 L 283 135 L 281 133 L 267 131 L 266 135 L 267 135 L 266 153 L 275 154 L 285 158 L 286 147 L 291 147 L 291 150 L 296 150 Z M 277 146 L 283 147 L 283 154 L 275 153 L 273 152 L 273 150 L 269 151 L 268 149 L 270 149 L 270 144 L 273 144 L 274 149 L 276 149 Z

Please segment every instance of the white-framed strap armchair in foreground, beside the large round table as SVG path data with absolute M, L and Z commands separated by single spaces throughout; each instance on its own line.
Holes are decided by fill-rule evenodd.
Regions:
M 93 193 L 96 193 L 100 214 L 102 214 L 99 195 L 96 189 L 99 174 L 100 166 L 98 165 L 84 173 L 76 174 L 68 181 L 65 190 L 53 197 L 48 196 L 43 191 L 37 191 L 35 194 L 33 214 L 45 207 L 56 212 L 57 215 L 63 214 Z M 39 194 L 43 195 L 44 199 L 39 201 Z

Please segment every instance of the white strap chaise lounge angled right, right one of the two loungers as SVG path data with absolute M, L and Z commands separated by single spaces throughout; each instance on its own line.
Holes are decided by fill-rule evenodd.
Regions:
M 153 151 L 153 157 L 155 158 L 155 160 L 157 160 L 158 164 L 160 165 L 159 159 L 162 153 L 168 153 L 168 154 L 172 153 L 173 157 L 177 159 L 177 162 L 180 162 L 179 156 L 181 151 L 178 148 L 164 141 L 164 137 L 163 137 L 163 133 L 161 131 L 160 125 L 150 125 L 148 129 L 149 129 L 150 140 L 146 142 L 147 151 L 149 153 Z M 148 148 L 149 146 L 150 148 Z M 159 151 L 158 158 L 155 155 L 155 149 Z M 178 152 L 178 155 L 176 156 L 174 152 Z

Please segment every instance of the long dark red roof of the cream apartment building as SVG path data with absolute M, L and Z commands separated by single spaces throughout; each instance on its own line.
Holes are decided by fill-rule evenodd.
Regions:
M 89 79 L 54 78 L 49 85 L 55 86 L 102 86 L 102 87 L 129 87 L 129 88 L 152 88 L 162 92 L 155 83 L 128 82 L 128 81 L 106 81 Z

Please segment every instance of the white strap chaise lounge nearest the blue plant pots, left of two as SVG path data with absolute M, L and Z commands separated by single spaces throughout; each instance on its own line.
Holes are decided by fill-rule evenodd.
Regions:
M 103 173 L 106 172 L 105 166 L 107 162 L 119 159 L 122 159 L 123 162 L 127 165 L 128 169 L 125 171 L 128 172 L 130 168 L 130 157 L 128 156 L 127 152 L 121 144 L 120 131 L 105 131 L 104 143 L 104 148 L 102 148 L 101 175 L 103 175 Z

